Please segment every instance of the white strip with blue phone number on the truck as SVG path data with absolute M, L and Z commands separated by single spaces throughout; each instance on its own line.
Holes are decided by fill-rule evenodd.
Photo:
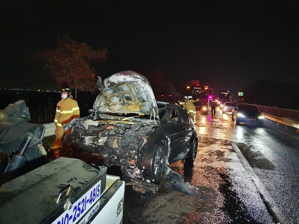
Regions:
M 101 195 L 101 180 L 52 224 L 76 224 L 93 207 Z

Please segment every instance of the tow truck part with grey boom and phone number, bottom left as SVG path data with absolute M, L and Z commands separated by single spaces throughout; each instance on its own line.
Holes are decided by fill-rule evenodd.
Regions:
M 79 159 L 47 160 L 20 100 L 0 110 L 0 224 L 120 224 L 125 182 Z

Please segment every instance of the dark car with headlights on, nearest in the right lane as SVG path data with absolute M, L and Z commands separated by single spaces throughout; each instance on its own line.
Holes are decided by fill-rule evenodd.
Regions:
M 261 111 L 254 105 L 238 105 L 232 111 L 232 120 L 237 124 L 244 122 L 263 126 L 264 118 Z

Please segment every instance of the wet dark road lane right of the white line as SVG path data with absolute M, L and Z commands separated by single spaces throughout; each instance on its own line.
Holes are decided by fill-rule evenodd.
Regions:
M 267 201 L 284 223 L 299 223 L 299 141 L 266 122 L 264 128 L 237 126 L 232 141 L 270 194 Z M 243 137 L 239 135 L 242 133 Z M 296 134 L 296 133 L 294 133 Z M 244 139 L 246 139 L 244 141 Z

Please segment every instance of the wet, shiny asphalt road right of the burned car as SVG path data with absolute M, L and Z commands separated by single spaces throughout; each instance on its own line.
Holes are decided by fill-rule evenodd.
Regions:
M 284 133 L 270 122 L 262 128 L 236 125 L 231 114 L 197 113 L 196 160 L 170 168 L 203 197 L 174 191 L 167 181 L 154 194 L 126 186 L 123 223 L 299 223 L 296 132 Z

